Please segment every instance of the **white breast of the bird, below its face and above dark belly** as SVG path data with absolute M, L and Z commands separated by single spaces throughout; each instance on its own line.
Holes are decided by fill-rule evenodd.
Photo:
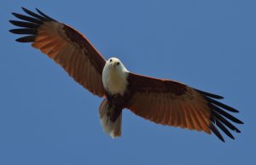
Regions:
M 106 64 L 102 71 L 102 83 L 104 88 L 110 94 L 124 95 L 128 85 L 128 74 L 129 72 L 126 69 Z

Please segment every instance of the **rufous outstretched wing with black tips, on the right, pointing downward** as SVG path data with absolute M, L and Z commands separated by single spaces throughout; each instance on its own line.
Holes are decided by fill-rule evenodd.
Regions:
M 127 108 L 140 117 L 152 122 L 180 128 L 212 132 L 224 141 L 218 132 L 220 128 L 231 139 L 231 130 L 240 133 L 232 123 L 242 123 L 226 111 L 238 112 L 217 100 L 223 97 L 209 94 L 183 83 L 144 77 L 134 73 L 128 76 L 129 89 L 132 97 Z M 224 111 L 226 110 L 226 111 Z

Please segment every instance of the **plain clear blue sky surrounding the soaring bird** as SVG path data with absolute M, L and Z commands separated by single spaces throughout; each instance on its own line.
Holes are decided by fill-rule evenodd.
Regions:
M 0 164 L 255 163 L 255 1 L 1 1 Z M 102 99 L 29 44 L 11 12 L 38 8 L 73 26 L 130 71 L 225 97 L 244 125 L 236 140 L 164 127 L 130 111 L 119 139 L 103 133 Z

